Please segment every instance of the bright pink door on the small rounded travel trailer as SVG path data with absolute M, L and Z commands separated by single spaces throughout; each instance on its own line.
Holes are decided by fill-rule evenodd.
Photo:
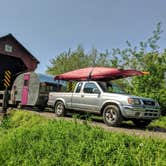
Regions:
M 27 105 L 28 103 L 29 80 L 30 80 L 30 74 L 24 74 L 24 84 L 22 88 L 22 97 L 21 97 L 22 105 Z

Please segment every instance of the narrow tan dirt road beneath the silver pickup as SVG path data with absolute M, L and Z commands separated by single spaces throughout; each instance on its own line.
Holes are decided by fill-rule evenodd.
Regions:
M 54 113 L 51 113 L 51 112 L 34 112 L 34 113 L 44 116 L 46 118 L 74 121 L 71 115 L 66 117 L 57 117 Z M 83 123 L 85 119 L 83 120 L 77 119 L 77 121 L 80 123 Z M 103 128 L 104 130 L 107 130 L 109 132 L 118 132 L 118 133 L 124 133 L 127 135 L 139 136 L 144 138 L 158 138 L 158 139 L 166 140 L 166 129 L 162 129 L 162 128 L 156 127 L 156 128 L 147 128 L 147 129 L 138 129 L 134 125 L 126 124 L 126 123 L 123 123 L 121 127 L 108 127 L 103 123 L 102 120 L 99 120 L 99 119 L 93 119 L 92 122 L 89 122 L 89 123 L 90 125 Z

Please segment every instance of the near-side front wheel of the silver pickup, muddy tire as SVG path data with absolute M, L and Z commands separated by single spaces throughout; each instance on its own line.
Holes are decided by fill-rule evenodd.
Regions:
M 122 115 L 116 105 L 108 105 L 103 111 L 103 120 L 107 126 L 119 126 L 122 122 Z

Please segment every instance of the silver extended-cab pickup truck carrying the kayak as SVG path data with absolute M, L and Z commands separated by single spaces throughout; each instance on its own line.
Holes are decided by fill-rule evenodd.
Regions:
M 48 106 L 57 116 L 63 116 L 66 110 L 102 115 L 108 126 L 132 120 L 136 126 L 145 127 L 160 116 L 156 101 L 129 95 L 111 82 L 82 81 L 73 93 L 50 92 Z

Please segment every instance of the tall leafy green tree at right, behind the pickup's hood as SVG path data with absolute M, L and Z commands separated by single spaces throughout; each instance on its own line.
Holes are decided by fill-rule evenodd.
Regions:
M 132 47 L 132 44 L 127 42 L 128 48 L 113 49 L 113 54 L 122 59 L 119 64 L 123 68 L 150 72 L 147 76 L 128 79 L 131 86 L 127 89 L 132 94 L 156 99 L 163 113 L 166 113 L 166 51 L 160 53 L 157 44 L 161 33 L 161 24 L 158 23 L 153 36 L 146 42 L 140 42 L 138 47 Z

